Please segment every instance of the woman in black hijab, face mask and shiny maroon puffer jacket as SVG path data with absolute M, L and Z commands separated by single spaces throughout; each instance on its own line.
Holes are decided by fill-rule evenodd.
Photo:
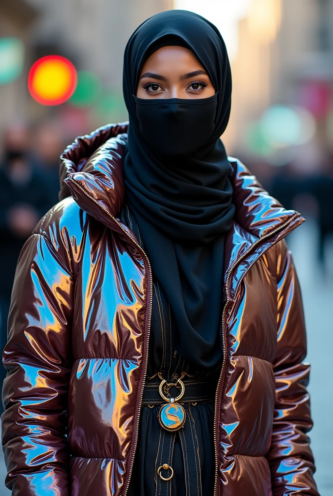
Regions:
M 202 17 L 144 22 L 127 124 L 61 156 L 62 201 L 18 262 L 4 350 L 15 495 L 318 495 L 303 222 L 227 159 L 231 76 Z M 128 132 L 128 134 L 126 134 Z

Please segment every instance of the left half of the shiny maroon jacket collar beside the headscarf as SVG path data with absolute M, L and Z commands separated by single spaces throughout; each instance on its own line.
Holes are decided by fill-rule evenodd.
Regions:
M 59 199 L 72 195 L 85 212 L 118 232 L 114 217 L 124 201 L 122 167 L 127 126 L 100 127 L 76 138 L 60 156 Z

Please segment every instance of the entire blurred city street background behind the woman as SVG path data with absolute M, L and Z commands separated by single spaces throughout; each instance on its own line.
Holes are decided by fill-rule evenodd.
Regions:
M 287 242 L 307 321 L 316 481 L 332 496 L 333 0 L 0 0 L 1 350 L 18 254 L 57 202 L 59 155 L 76 136 L 127 119 L 125 44 L 172 8 L 207 17 L 225 39 L 228 154 L 308 221 Z M 0 455 L 0 496 L 4 477 Z

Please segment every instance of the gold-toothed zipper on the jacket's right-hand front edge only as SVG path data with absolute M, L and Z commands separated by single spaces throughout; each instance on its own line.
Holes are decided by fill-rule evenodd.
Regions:
M 260 245 L 263 241 L 265 240 L 268 240 L 270 238 L 272 238 L 272 236 L 274 236 L 275 234 L 277 234 L 278 232 L 282 231 L 285 227 L 287 227 L 295 218 L 296 215 L 299 215 L 298 212 L 295 212 L 294 215 L 292 215 L 292 217 L 290 217 L 290 219 L 288 219 L 286 222 L 284 222 L 284 224 L 281 224 L 279 227 L 277 227 L 276 229 L 274 229 L 274 231 L 272 231 L 271 233 L 269 234 L 266 234 L 265 236 L 263 236 L 262 238 L 258 239 L 255 243 L 253 243 L 236 261 L 235 263 L 232 265 L 232 267 L 228 270 L 227 274 L 226 274 L 226 279 L 225 279 L 225 286 L 224 286 L 224 289 L 225 289 L 225 293 L 226 293 L 226 302 L 225 302 L 225 305 L 223 307 L 223 311 L 222 311 L 222 345 L 223 345 L 223 361 L 222 361 L 222 368 L 221 368 L 221 374 L 220 374 L 220 378 L 219 378 L 219 381 L 218 381 L 218 385 L 217 385 L 217 389 L 216 389 L 216 395 L 215 395 L 215 412 L 214 412 L 214 445 L 215 445 L 215 486 L 214 486 L 214 496 L 218 496 L 218 493 L 217 493 L 217 490 L 218 490 L 218 458 L 219 458 L 219 453 L 218 453 L 218 445 L 217 445 L 217 429 L 216 429 L 216 421 L 217 421 L 217 410 L 218 410 L 218 392 L 219 392 L 219 389 L 220 389 L 220 386 L 221 386 L 221 382 L 222 382 L 222 379 L 223 379 L 223 376 L 224 376 L 224 369 L 225 369 L 225 365 L 226 365 L 226 352 L 227 352 L 227 343 L 226 343 L 226 334 L 224 332 L 224 317 L 225 317 L 225 311 L 226 311 L 226 307 L 227 305 L 229 304 L 229 302 L 231 301 L 231 299 L 229 298 L 229 281 L 230 281 L 230 277 L 231 277 L 231 274 L 233 272 L 233 270 L 235 269 L 235 267 L 242 261 L 244 260 L 244 258 L 249 254 L 251 253 L 251 251 L 254 250 L 254 248 L 256 248 L 258 245 Z

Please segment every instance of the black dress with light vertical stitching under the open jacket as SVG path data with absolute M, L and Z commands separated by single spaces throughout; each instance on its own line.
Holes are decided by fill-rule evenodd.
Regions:
M 121 222 L 142 239 L 133 215 L 125 205 L 119 214 Z M 161 284 L 153 274 L 153 309 L 148 353 L 146 384 L 160 382 L 158 373 L 168 382 L 184 379 L 206 379 L 216 390 L 221 364 L 212 371 L 186 363 L 173 346 L 175 320 Z M 139 439 L 128 496 L 213 496 L 215 481 L 214 395 L 207 402 L 186 402 L 184 428 L 167 432 L 158 419 L 159 406 L 144 404 L 141 408 Z M 157 475 L 163 465 L 172 466 L 174 475 L 168 482 Z M 164 476 L 168 477 L 169 472 Z

